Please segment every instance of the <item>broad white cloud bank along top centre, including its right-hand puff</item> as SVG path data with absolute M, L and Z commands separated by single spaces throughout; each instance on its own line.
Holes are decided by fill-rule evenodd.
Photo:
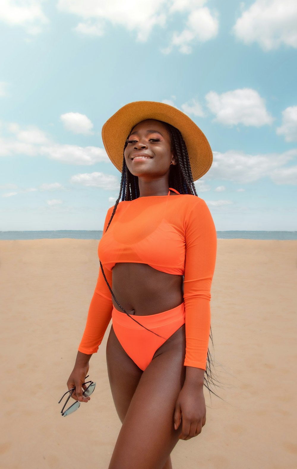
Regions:
M 187 14 L 182 32 L 175 32 L 171 44 L 163 49 L 171 52 L 177 46 L 182 53 L 190 53 L 192 45 L 216 36 L 218 20 L 204 5 L 207 0 L 59 0 L 60 11 L 76 15 L 82 21 L 75 30 L 90 36 L 102 36 L 106 26 L 124 27 L 136 33 L 138 41 L 147 41 L 155 27 L 165 28 L 167 21 L 176 18 L 183 23 L 181 15 Z M 168 22 L 169 22 L 168 21 Z

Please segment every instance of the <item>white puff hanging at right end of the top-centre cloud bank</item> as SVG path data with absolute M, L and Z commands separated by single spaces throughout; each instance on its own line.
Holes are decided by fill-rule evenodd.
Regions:
M 190 54 L 193 45 L 215 38 L 218 34 L 218 29 L 219 22 L 217 18 L 211 14 L 209 8 L 192 9 L 184 30 L 180 33 L 175 31 L 171 38 L 170 45 L 164 48 L 162 52 L 166 54 L 170 53 L 173 47 L 176 46 L 181 53 Z

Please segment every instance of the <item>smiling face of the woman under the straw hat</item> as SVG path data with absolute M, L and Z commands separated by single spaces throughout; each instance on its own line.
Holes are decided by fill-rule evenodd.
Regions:
M 169 174 L 170 163 L 175 164 L 168 130 L 160 121 L 139 122 L 127 139 L 124 151 L 126 165 L 138 177 L 161 177 Z

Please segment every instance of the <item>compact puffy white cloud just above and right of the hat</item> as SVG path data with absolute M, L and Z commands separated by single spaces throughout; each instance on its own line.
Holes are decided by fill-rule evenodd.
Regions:
M 271 124 L 272 116 L 267 113 L 265 101 L 259 93 L 251 88 L 227 91 L 219 95 L 214 91 L 206 94 L 206 102 L 215 121 L 225 125 L 260 127 Z

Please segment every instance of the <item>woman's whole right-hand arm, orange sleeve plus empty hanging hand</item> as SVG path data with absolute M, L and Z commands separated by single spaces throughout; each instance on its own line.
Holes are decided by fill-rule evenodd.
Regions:
M 195 201 L 196 202 L 196 201 Z M 186 378 L 175 406 L 175 429 L 180 439 L 197 436 L 206 423 L 203 394 L 210 333 L 210 289 L 216 259 L 217 237 L 204 200 L 198 198 L 186 220 L 184 302 L 186 327 Z

